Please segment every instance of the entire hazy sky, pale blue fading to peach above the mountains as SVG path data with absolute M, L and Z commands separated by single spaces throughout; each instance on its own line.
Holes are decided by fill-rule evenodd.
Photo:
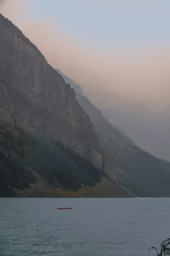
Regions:
M 170 105 L 169 0 L 0 3 L 0 12 L 85 93 L 112 89 L 152 109 Z

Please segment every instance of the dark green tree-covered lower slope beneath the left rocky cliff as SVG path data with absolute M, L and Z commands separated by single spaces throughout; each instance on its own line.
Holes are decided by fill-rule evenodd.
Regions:
M 13 188 L 29 188 L 36 178 L 31 169 L 40 173 L 51 185 L 77 191 L 82 184 L 94 186 L 104 172 L 92 161 L 82 157 L 69 145 L 24 128 L 1 122 L 0 177 L 4 184 L 0 196 L 12 196 Z

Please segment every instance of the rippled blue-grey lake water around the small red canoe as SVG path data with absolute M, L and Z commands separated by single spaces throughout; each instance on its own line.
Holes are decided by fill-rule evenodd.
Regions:
M 1 256 L 156 256 L 169 237 L 170 198 L 0 198 Z

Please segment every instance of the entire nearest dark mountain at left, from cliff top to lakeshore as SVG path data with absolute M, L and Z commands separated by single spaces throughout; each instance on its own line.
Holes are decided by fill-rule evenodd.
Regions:
M 2 15 L 0 38 L 0 196 L 129 197 L 74 89 Z

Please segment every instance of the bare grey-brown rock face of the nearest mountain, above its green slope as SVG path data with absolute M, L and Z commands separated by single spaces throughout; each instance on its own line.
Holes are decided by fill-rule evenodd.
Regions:
M 20 118 L 40 133 L 69 144 L 102 168 L 103 153 L 95 128 L 75 96 L 74 89 L 36 46 L 0 15 L 0 116 L 9 122 Z M 113 166 L 108 159 L 104 169 L 116 179 Z

